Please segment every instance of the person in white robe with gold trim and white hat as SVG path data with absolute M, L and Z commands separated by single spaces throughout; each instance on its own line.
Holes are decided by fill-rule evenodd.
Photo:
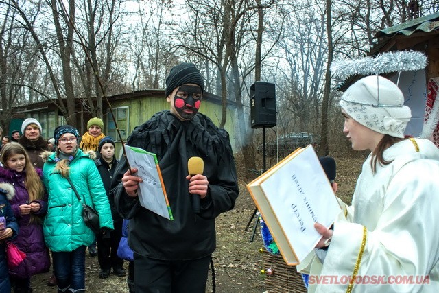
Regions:
M 352 205 L 298 271 L 309 292 L 439 292 L 439 150 L 405 138 L 411 118 L 398 86 L 378 75 L 342 95 L 343 132 L 370 150 Z

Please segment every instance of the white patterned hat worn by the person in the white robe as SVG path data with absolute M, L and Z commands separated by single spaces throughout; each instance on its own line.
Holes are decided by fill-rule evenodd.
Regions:
M 361 78 L 349 86 L 340 106 L 359 124 L 392 137 L 403 138 L 412 117 L 399 87 L 379 75 Z

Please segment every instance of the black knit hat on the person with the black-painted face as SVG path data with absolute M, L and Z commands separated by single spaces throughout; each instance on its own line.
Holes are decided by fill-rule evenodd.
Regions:
M 193 63 L 181 63 L 171 68 L 166 78 L 166 97 L 183 84 L 197 84 L 204 90 L 203 77 Z

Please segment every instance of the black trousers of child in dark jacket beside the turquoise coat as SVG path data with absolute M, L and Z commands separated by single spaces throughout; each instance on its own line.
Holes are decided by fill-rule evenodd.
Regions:
M 111 231 L 110 238 L 102 238 L 102 234 L 96 237 L 97 261 L 102 270 L 123 266 L 123 259 L 117 256 L 117 247 L 122 237 L 122 221 L 115 221 L 113 225 L 115 229 Z

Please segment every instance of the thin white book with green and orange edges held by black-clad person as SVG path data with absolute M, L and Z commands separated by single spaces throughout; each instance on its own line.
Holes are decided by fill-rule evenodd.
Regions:
M 130 166 L 138 170 L 137 176 L 143 180 L 137 189 L 141 206 L 174 220 L 156 154 L 129 145 L 125 145 L 125 151 Z

